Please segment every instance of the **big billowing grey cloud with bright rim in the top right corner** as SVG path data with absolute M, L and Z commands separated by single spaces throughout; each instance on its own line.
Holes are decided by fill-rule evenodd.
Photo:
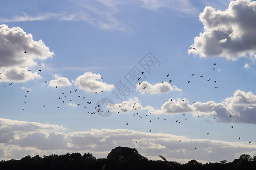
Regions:
M 255 57 L 256 47 L 256 2 L 251 0 L 231 1 L 224 10 L 207 6 L 199 15 L 204 32 L 195 37 L 188 53 L 200 57 L 220 56 L 236 60 L 241 57 Z

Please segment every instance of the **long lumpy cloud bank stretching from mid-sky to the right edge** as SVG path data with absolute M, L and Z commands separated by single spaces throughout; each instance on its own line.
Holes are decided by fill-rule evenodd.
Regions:
M 134 104 L 136 103 L 136 104 Z M 129 111 L 147 111 L 152 114 L 182 114 L 189 113 L 192 116 L 212 116 L 220 122 L 238 122 L 256 124 L 256 96 L 252 92 L 237 90 L 233 96 L 226 97 L 221 103 L 207 101 L 189 104 L 187 99 L 169 99 L 160 109 L 150 105 L 143 107 L 137 97 L 122 101 L 122 103 L 109 106 L 113 112 L 125 113 Z M 231 117 L 230 117 L 231 116 Z

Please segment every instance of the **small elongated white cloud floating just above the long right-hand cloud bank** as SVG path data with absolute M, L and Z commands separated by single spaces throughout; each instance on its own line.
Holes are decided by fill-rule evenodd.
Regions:
M 181 91 L 180 88 L 171 86 L 171 84 L 167 82 L 152 85 L 146 81 L 142 82 L 141 84 L 137 84 L 136 90 L 141 94 L 167 94 L 171 91 Z

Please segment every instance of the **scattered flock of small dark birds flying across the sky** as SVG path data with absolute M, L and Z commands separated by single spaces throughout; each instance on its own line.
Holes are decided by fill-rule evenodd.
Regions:
M 190 49 L 193 49 L 193 50 L 196 50 L 195 48 L 190 48 Z M 27 51 L 24 51 L 24 53 L 27 53 Z M 215 70 L 216 69 L 216 63 L 213 63 L 213 70 Z M 32 71 L 31 69 L 29 69 L 28 71 Z M 42 70 L 40 69 L 40 70 L 38 70 L 39 72 L 41 72 Z M 144 71 L 142 71 L 142 73 L 141 73 L 142 75 L 144 74 Z M 2 75 L 2 73 L 0 73 L 0 76 Z M 24 75 L 24 73 L 22 73 L 22 75 Z M 170 76 L 170 74 L 167 74 L 166 75 L 168 78 L 169 78 L 169 76 Z M 195 76 L 195 74 L 191 74 L 191 76 Z M 200 77 L 201 78 L 203 78 L 203 75 L 200 75 Z M 0 78 L 0 80 L 2 80 L 2 78 Z M 139 82 L 139 80 L 141 80 L 141 77 L 139 77 L 138 78 L 138 80 L 137 80 L 137 82 L 138 82 L 138 84 L 139 85 L 141 85 L 141 83 L 142 82 Z M 207 79 L 207 81 L 209 82 L 210 81 L 210 79 Z M 168 80 L 168 82 L 169 83 L 171 83 L 172 82 L 172 79 L 169 79 Z M 191 80 L 188 80 L 188 84 L 191 82 Z M 45 81 L 44 83 L 48 83 L 47 81 Z M 162 81 L 162 83 L 164 83 L 164 81 Z M 217 83 L 217 81 L 216 80 L 213 80 L 213 83 Z M 11 82 L 10 84 L 8 84 L 8 86 L 11 86 L 13 84 L 13 82 Z M 2 85 L 3 87 L 6 87 L 6 86 L 4 86 L 4 85 Z M 57 86 L 55 86 L 55 88 L 58 88 Z M 214 86 L 214 88 L 218 88 L 217 86 Z M 146 87 L 143 87 L 143 89 L 146 89 Z M 60 94 L 60 96 L 58 97 L 58 100 L 60 101 L 60 103 L 71 103 L 72 102 L 72 99 L 71 99 L 71 96 L 68 96 L 67 94 L 72 94 L 72 93 L 76 93 L 77 92 L 77 89 L 76 90 L 73 90 L 73 91 L 68 91 L 68 92 L 61 92 L 61 94 Z M 103 91 L 101 91 L 101 93 L 102 93 Z M 26 95 L 24 95 L 24 97 L 25 98 L 27 98 L 28 97 L 28 93 L 29 93 L 29 91 L 26 91 Z M 97 94 L 98 92 L 95 92 L 95 94 Z M 72 96 L 73 97 L 73 96 Z M 82 97 L 81 95 L 77 95 L 77 97 L 78 97 L 78 99 L 82 99 L 82 100 L 85 100 L 86 99 L 86 97 Z M 171 99 L 171 101 L 172 101 L 172 99 Z M 184 101 L 184 100 L 183 100 Z M 28 102 L 27 101 L 24 101 L 24 104 L 27 104 Z M 193 102 L 193 103 L 195 103 L 195 102 Z M 86 104 L 86 105 L 85 105 Z M 92 101 L 88 101 L 88 100 L 86 100 L 86 103 L 82 103 L 81 105 L 84 105 L 84 108 L 86 108 L 86 106 L 87 105 L 91 105 L 91 104 L 93 104 L 92 103 Z M 76 104 L 76 106 L 78 107 L 78 106 L 80 106 L 80 103 L 77 103 Z M 44 104 L 44 105 L 42 105 L 42 107 L 43 108 L 45 108 L 46 107 L 46 104 Z M 142 117 L 150 117 L 150 114 L 152 114 L 152 112 L 148 112 L 148 114 L 145 114 L 145 115 L 142 115 L 142 114 L 140 114 L 140 113 L 138 113 L 139 112 L 139 110 L 140 109 L 142 109 L 137 103 L 133 103 L 133 106 L 132 106 L 133 108 L 133 111 L 134 111 L 134 113 L 133 113 L 133 116 L 138 116 L 139 118 L 142 118 Z M 59 109 L 60 108 L 60 105 L 58 105 L 57 107 L 56 107 L 57 109 Z M 96 114 L 97 112 L 106 112 L 105 110 L 107 109 L 107 111 L 108 111 L 108 113 L 110 113 L 111 112 L 111 108 L 112 108 L 112 105 L 110 105 L 110 106 L 108 106 L 108 105 L 100 105 L 100 104 L 97 104 L 97 105 L 95 105 L 95 107 L 94 107 L 94 111 L 93 112 L 87 112 L 87 114 Z M 121 105 L 119 105 L 119 109 L 117 109 L 116 110 L 116 112 L 117 113 L 120 113 L 120 112 L 127 112 L 128 110 L 127 110 L 128 108 L 122 108 L 121 107 Z M 25 109 L 24 108 L 22 108 L 22 110 L 24 111 Z M 196 112 L 196 111 L 195 111 Z M 185 116 L 185 114 L 183 114 L 183 116 Z M 200 116 L 198 116 L 198 117 L 200 117 Z M 230 115 L 229 117 L 232 117 L 232 115 Z M 160 118 L 157 118 L 157 120 L 159 120 Z M 215 120 L 216 118 L 214 117 L 214 120 Z M 164 118 L 163 119 L 164 121 L 166 121 L 167 120 L 167 118 Z M 187 120 L 187 118 L 185 118 L 185 120 Z M 151 123 L 151 122 L 153 122 L 153 121 L 155 121 L 155 120 L 152 120 L 152 118 L 150 118 L 150 120 L 148 120 L 148 122 L 149 123 Z M 176 123 L 178 123 L 178 124 L 180 124 L 180 121 L 179 120 L 175 120 L 175 122 Z M 128 126 L 129 125 L 129 123 L 128 122 L 126 122 L 126 126 Z M 231 128 L 233 129 L 234 127 L 233 126 L 231 126 Z M 151 132 L 151 129 L 150 130 L 148 130 L 149 132 Z M 207 133 L 207 135 L 209 135 L 209 133 Z M 240 140 L 241 139 L 241 137 L 239 137 L 238 138 L 238 140 Z M 181 140 L 179 140 L 179 142 L 181 142 Z M 135 143 L 138 143 L 137 141 L 135 141 Z M 251 143 L 251 141 L 249 141 L 249 143 Z M 195 147 L 195 149 L 197 149 L 196 147 Z

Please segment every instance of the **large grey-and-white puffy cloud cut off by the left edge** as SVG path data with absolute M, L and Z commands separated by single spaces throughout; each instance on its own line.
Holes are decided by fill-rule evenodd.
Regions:
M 42 40 L 35 41 L 30 33 L 20 27 L 0 25 L 0 67 L 4 82 L 26 82 L 42 78 L 37 72 L 28 72 L 28 67 L 37 66 L 38 60 L 51 58 L 54 53 Z M 27 53 L 24 53 L 24 52 Z M 23 73 L 23 74 L 22 74 Z

